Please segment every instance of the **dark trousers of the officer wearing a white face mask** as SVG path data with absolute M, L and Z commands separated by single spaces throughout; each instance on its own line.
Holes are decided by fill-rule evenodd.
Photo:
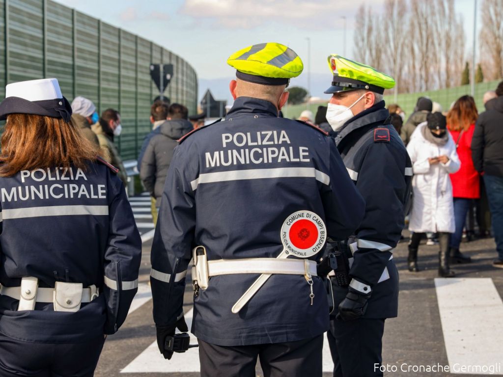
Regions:
M 384 319 L 330 321 L 326 334 L 333 360 L 333 377 L 382 376 Z

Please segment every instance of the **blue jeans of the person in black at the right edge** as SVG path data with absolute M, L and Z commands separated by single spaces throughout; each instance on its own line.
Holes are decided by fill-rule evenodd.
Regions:
M 491 210 L 496 251 L 498 258 L 503 260 L 503 177 L 484 174 L 484 183 Z

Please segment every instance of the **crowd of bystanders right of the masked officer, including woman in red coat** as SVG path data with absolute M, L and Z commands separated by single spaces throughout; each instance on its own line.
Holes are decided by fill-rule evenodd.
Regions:
M 450 266 L 470 263 L 460 252 L 464 238 L 493 236 L 494 267 L 503 268 L 503 82 L 484 93 L 485 112 L 478 113 L 473 97 L 465 95 L 448 111 L 426 97 L 417 99 L 405 121 L 398 104 L 387 106 L 389 122 L 400 135 L 412 160 L 408 269 L 420 270 L 418 248 L 439 244 L 439 274 L 454 276 Z M 314 116 L 304 110 L 298 120 L 337 135 L 326 122 L 327 107 Z M 475 226 L 476 224 L 476 226 Z M 491 232 L 492 230 L 492 232 Z

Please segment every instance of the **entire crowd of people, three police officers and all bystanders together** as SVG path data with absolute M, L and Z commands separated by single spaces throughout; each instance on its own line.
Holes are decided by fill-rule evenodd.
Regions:
M 235 101 L 223 120 L 202 127 L 181 104 L 151 106 L 138 169 L 156 223 L 157 346 L 166 359 L 189 347 L 176 330 L 188 331 L 190 273 L 205 377 L 256 375 L 259 358 L 267 376 L 321 376 L 325 332 L 334 376 L 382 376 L 385 321 L 398 315 L 393 250 L 409 207 L 409 270 L 429 233 L 439 275 L 452 277 L 451 263 L 470 262 L 459 250 L 470 209 L 480 234 L 490 229 L 485 192 L 493 266 L 503 267 L 503 82 L 480 116 L 470 96 L 446 114 L 420 98 L 403 124 L 383 100 L 393 77 L 327 59 L 328 106 L 302 122 L 281 116 L 303 63 L 279 43 L 229 56 Z M 114 143 L 120 114 L 99 116 L 83 97 L 70 105 L 56 79 L 41 79 L 8 84 L 0 120 L 0 374 L 92 376 L 141 261 Z

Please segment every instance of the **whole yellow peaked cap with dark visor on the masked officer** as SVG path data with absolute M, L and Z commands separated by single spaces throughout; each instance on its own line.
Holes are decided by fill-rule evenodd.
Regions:
M 325 93 L 366 89 L 382 94 L 384 89 L 395 86 L 393 77 L 386 73 L 340 55 L 328 55 L 328 66 L 333 73 L 333 80 Z

